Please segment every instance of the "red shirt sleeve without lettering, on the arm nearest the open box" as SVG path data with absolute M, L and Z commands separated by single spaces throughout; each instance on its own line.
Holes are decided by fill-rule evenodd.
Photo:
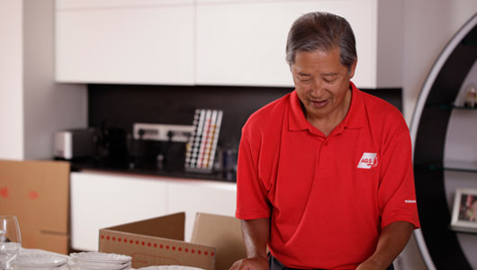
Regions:
M 237 210 L 236 217 L 241 220 L 253 220 L 270 217 L 267 192 L 259 172 L 259 147 L 251 143 L 246 127 L 238 147 L 237 165 Z

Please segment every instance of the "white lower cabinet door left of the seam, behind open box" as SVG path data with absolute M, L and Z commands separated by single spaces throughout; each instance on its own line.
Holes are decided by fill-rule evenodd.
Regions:
M 71 247 L 98 250 L 99 229 L 166 213 L 166 185 L 148 177 L 71 174 Z

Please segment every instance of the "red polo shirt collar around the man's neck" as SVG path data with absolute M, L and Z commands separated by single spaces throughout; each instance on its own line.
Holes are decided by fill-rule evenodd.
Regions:
M 333 130 L 340 132 L 343 129 L 359 129 L 363 126 L 365 119 L 363 114 L 365 112 L 365 103 L 363 102 L 363 93 L 356 88 L 356 85 L 350 82 L 352 97 L 351 105 L 347 112 L 347 116 L 341 121 Z M 306 120 L 302 111 L 302 104 L 296 90 L 290 94 L 290 112 L 288 115 L 289 130 L 308 130 L 310 123 Z

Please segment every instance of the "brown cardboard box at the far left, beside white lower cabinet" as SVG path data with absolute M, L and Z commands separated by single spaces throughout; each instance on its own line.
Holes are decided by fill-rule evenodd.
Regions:
M 0 160 L 0 214 L 18 218 L 23 247 L 67 254 L 69 163 Z

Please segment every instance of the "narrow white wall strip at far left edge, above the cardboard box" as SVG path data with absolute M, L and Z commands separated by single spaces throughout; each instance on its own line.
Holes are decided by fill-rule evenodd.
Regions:
M 0 158 L 23 158 L 22 1 L 0 1 Z

